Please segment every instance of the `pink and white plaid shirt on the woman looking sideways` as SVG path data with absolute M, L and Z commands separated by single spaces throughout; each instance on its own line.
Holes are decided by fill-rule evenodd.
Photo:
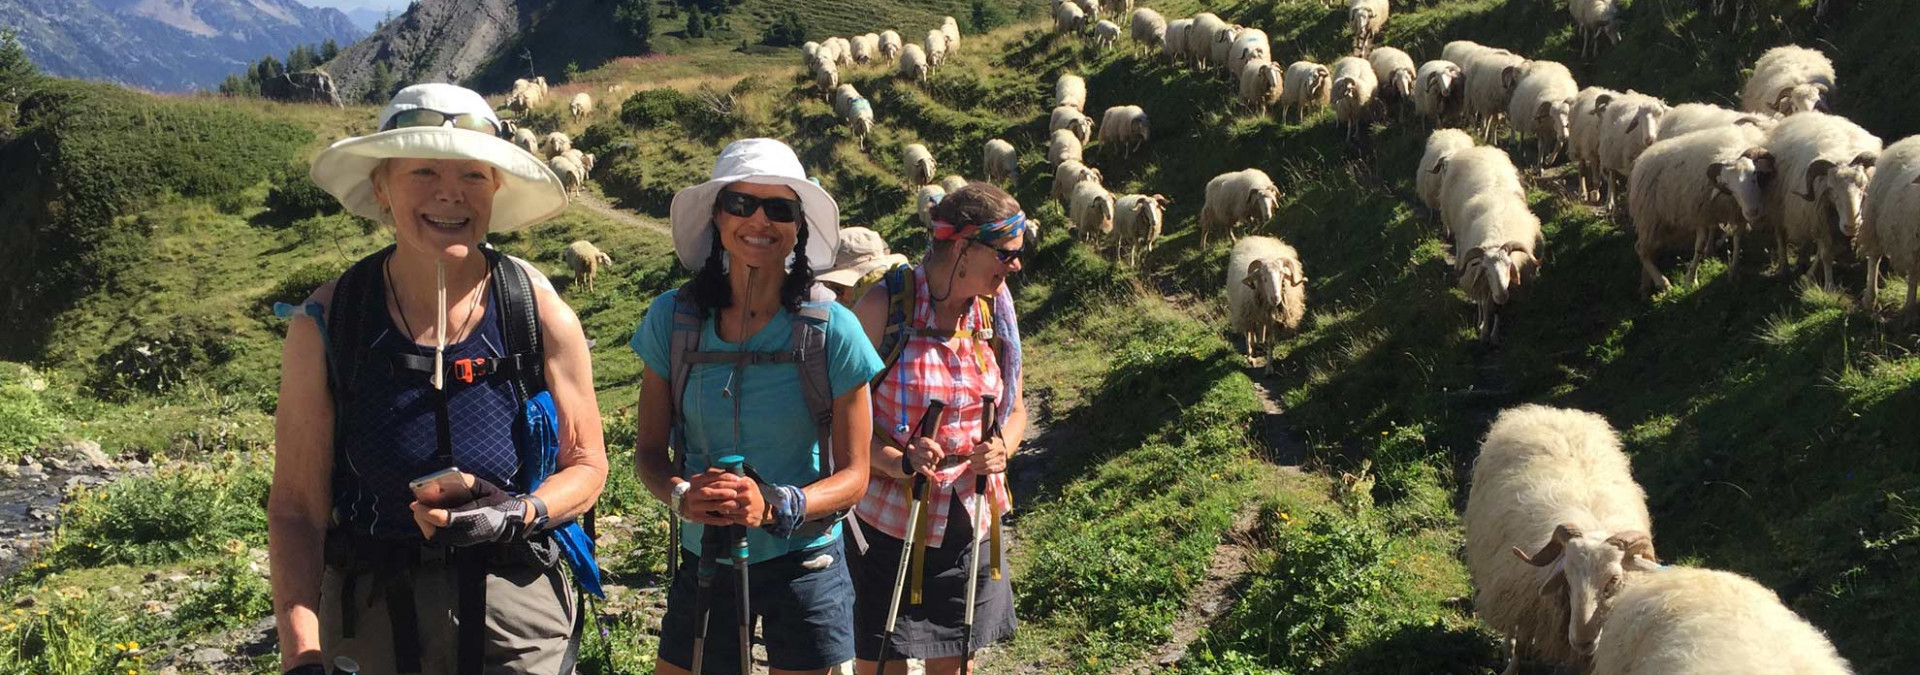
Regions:
M 933 320 L 925 268 L 914 270 L 914 286 L 916 305 L 906 324 L 924 330 Z M 972 454 L 973 443 L 979 441 L 981 433 L 979 395 L 993 393 L 998 397 L 1002 385 L 1000 364 L 993 357 L 993 343 L 977 338 L 991 324 L 993 320 L 981 314 L 979 303 L 973 303 L 960 320 L 960 328 L 975 332 L 975 338 L 954 338 L 950 341 L 922 336 L 910 338 L 900 349 L 900 361 L 893 366 L 893 372 L 874 387 L 874 430 L 887 433 L 895 447 L 904 447 L 906 435 L 912 433 L 910 426 L 920 422 L 920 416 L 927 412 L 927 401 L 941 399 L 947 401 L 947 412 L 941 418 L 939 431 L 931 433 L 933 439 L 941 443 L 947 454 Z M 950 466 L 937 472 L 937 476 L 939 479 L 927 491 L 933 495 L 933 502 L 922 516 L 933 518 L 931 529 L 927 529 L 927 547 L 941 547 L 947 539 L 947 518 L 950 518 L 948 508 L 952 504 L 947 493 L 960 495 L 960 502 L 973 516 L 975 535 L 987 533 L 989 518 L 1014 508 L 1014 499 L 1006 489 L 1006 474 L 987 477 L 987 499 L 993 502 L 993 514 L 973 514 L 975 474 L 972 462 Z M 908 541 L 906 518 L 912 499 L 912 479 L 897 479 L 874 472 L 874 477 L 866 483 L 866 497 L 860 499 L 854 512 L 860 514 L 862 524 L 879 527 L 879 531 L 895 539 Z

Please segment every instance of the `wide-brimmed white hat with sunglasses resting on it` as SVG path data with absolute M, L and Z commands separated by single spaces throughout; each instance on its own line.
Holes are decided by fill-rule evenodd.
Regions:
M 380 127 L 397 113 L 422 107 L 447 115 L 478 113 L 501 127 L 486 98 L 444 82 L 413 84 L 394 94 L 380 111 Z M 499 169 L 501 188 L 493 194 L 488 232 L 513 232 L 566 211 L 566 188 L 545 161 L 505 138 L 455 127 L 401 127 L 340 140 L 313 157 L 313 182 L 340 199 L 348 213 L 384 221 L 372 196 L 372 169 L 394 157 L 476 159 Z

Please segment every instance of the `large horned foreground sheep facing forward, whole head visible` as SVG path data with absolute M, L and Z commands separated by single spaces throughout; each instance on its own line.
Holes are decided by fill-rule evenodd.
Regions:
M 1507 673 L 1523 654 L 1567 665 L 1592 654 L 1607 593 L 1659 568 L 1647 493 L 1619 435 L 1594 412 L 1509 408 L 1480 441 L 1471 485 L 1473 608 L 1507 637 Z

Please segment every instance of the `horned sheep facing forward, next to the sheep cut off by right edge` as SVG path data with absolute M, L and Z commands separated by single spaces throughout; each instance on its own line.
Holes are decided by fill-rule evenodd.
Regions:
M 1880 159 L 1880 138 L 1839 115 L 1795 113 L 1766 134 L 1778 167 L 1768 224 L 1774 226 L 1774 261 L 1786 270 L 1788 247 L 1812 244 L 1834 288 L 1834 249 L 1860 232 L 1860 201 Z M 1807 263 L 1807 255 L 1801 255 Z

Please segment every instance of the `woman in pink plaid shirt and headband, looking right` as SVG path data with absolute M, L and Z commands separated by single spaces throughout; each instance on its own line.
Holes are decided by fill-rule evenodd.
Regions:
M 1006 276 L 1020 272 L 1031 234 L 1020 203 L 987 182 L 970 182 L 933 209 L 933 245 L 912 274 L 910 330 L 899 359 L 874 384 L 874 476 L 854 508 L 870 545 L 849 558 L 854 654 L 862 675 L 872 673 L 881 656 L 900 547 L 920 541 L 920 535 L 910 539 L 908 533 L 914 474 L 929 479 L 929 500 L 920 516 L 927 522 L 920 529 L 925 537 L 924 571 L 906 581 L 918 585 L 922 600 L 910 602 L 912 593 L 902 596 L 887 660 L 918 658 L 925 660 L 929 675 L 960 673 L 962 662 L 975 650 L 1014 635 L 1014 589 L 1004 562 L 998 579 L 993 579 L 985 560 L 970 566 L 970 558 L 973 539 L 987 535 L 1012 508 L 1006 460 L 1027 430 L 1020 382 L 1010 389 L 1012 397 L 1002 389 L 1002 366 L 1016 380 L 1020 376 L 1000 362 L 1006 343 L 1004 336 L 993 334 L 991 307 Z M 883 338 L 891 311 L 885 288 L 854 307 L 876 345 L 889 347 Z M 1002 322 L 1010 318 L 1000 316 Z M 993 412 L 1000 430 L 985 441 L 983 395 L 1000 399 Z M 939 428 L 908 439 L 908 426 L 920 420 L 931 399 L 947 403 Z M 973 485 L 979 476 L 987 476 L 991 506 L 975 512 Z M 977 577 L 970 579 L 968 570 L 975 568 Z M 964 637 L 970 583 L 981 585 L 973 602 L 972 644 Z M 972 663 L 966 665 L 972 673 Z M 900 667 L 904 671 L 904 663 Z

